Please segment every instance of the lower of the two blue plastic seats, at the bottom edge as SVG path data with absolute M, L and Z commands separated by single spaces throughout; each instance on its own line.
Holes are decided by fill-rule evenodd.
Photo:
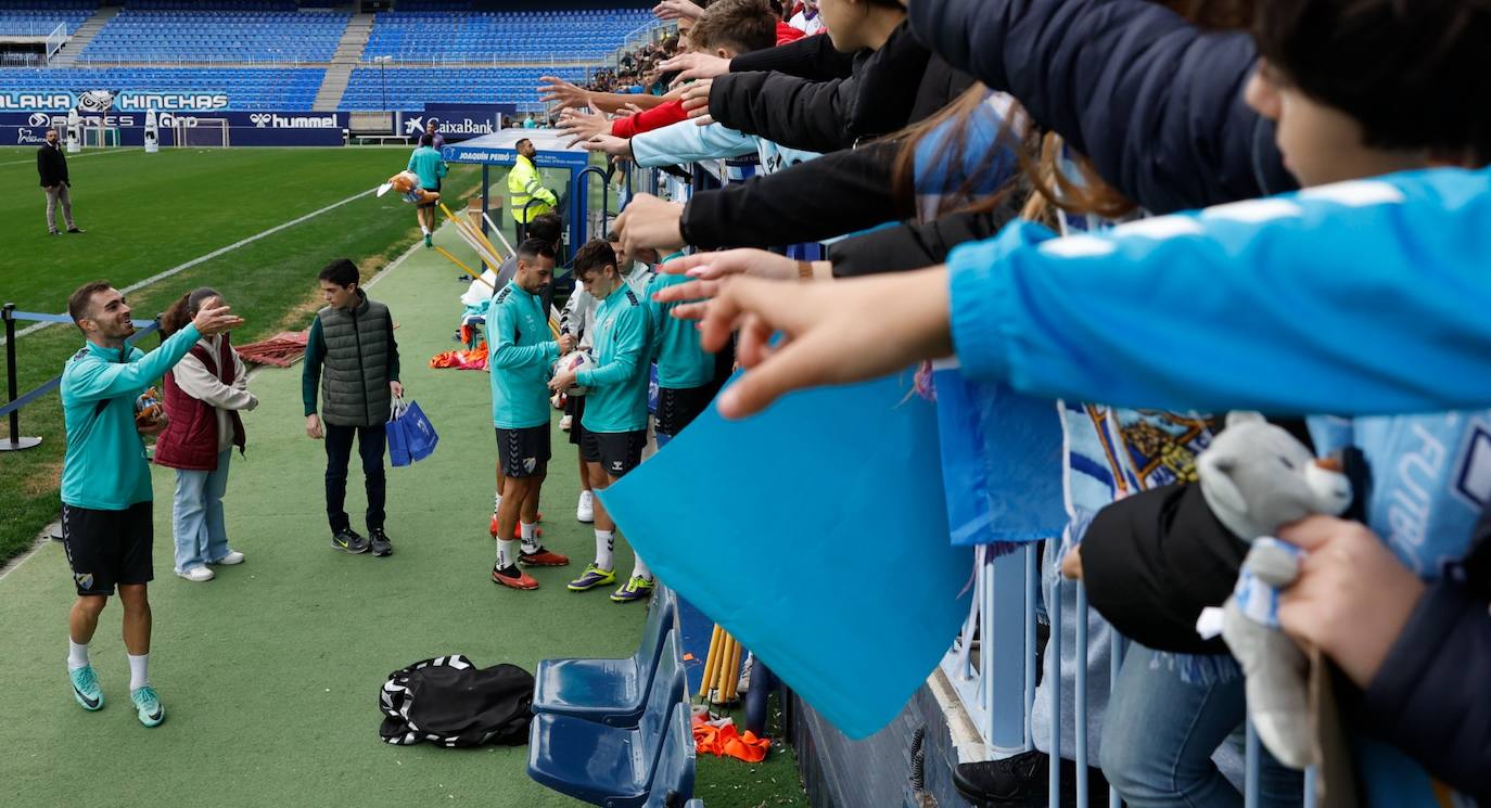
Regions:
M 592 805 L 640 808 L 647 802 L 668 736 L 687 738 L 687 747 L 693 748 L 683 689 L 678 632 L 668 632 L 637 729 L 571 716 L 534 716 L 528 777 Z

